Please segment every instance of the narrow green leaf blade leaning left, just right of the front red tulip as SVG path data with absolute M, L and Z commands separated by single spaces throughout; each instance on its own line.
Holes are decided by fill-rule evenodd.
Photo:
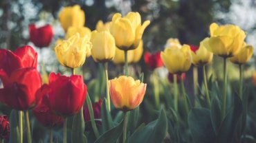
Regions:
M 88 93 L 87 93 L 87 96 L 86 96 L 86 103 L 87 103 L 87 106 L 88 106 L 88 109 L 89 109 L 89 114 L 90 114 L 90 119 L 91 119 L 91 126 L 93 127 L 93 132 L 94 132 L 95 136 L 98 138 L 100 136 L 100 133 L 99 133 L 98 128 L 95 124 L 93 106 L 91 104 L 91 99 L 90 99 L 90 96 L 89 96 Z

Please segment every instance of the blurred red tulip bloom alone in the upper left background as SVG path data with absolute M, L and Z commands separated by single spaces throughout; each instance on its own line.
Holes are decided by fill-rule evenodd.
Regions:
M 36 28 L 35 24 L 29 25 L 30 41 L 37 47 L 48 47 L 53 39 L 53 28 L 51 25 L 44 25 Z

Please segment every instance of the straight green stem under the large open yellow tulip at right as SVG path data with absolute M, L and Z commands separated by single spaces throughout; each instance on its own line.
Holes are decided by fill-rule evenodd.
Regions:
M 223 120 L 226 115 L 226 99 L 227 99 L 227 60 L 223 58 L 223 78 L 224 78 L 224 89 L 223 89 L 223 96 L 222 96 L 222 110 L 221 110 L 221 119 Z

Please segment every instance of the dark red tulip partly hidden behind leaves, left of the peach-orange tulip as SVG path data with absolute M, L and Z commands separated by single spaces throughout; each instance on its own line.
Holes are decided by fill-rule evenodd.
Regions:
M 102 107 L 102 99 L 100 99 L 98 102 L 93 103 L 93 114 L 95 119 L 100 119 L 101 118 L 101 107 Z M 90 113 L 89 113 L 89 108 L 86 106 L 84 108 L 84 121 L 88 122 L 90 121 Z

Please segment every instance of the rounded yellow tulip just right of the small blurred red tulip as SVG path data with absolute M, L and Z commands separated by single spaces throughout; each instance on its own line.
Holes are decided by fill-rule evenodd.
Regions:
M 171 74 L 181 74 L 190 69 L 192 57 L 190 46 L 183 45 L 181 48 L 176 45 L 168 47 L 161 52 L 161 59 Z

